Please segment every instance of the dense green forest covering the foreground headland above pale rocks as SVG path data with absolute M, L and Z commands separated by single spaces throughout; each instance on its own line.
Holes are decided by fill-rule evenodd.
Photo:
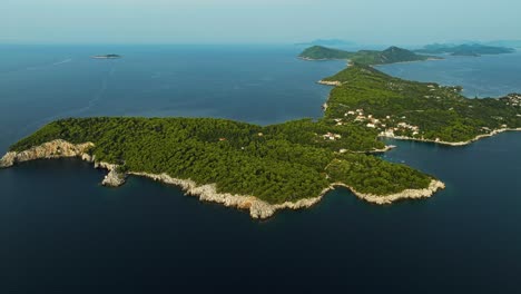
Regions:
M 337 138 L 324 138 L 327 133 Z M 316 197 L 333 182 L 387 195 L 424 188 L 431 180 L 371 155 L 340 153 L 383 147 L 374 130 L 308 119 L 260 127 L 213 118 L 70 118 L 45 126 L 11 150 L 53 139 L 91 141 L 97 160 L 118 164 L 122 170 L 216 183 L 219 192 L 268 203 Z

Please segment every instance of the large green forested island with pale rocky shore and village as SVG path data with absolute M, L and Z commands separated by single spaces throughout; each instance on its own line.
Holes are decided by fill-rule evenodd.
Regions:
M 79 157 L 108 169 L 102 184 L 148 177 L 187 195 L 248 209 L 253 218 L 309 207 L 346 187 L 363 200 L 391 204 L 432 196 L 433 175 L 374 156 L 381 137 L 466 145 L 521 129 L 521 95 L 469 99 L 461 87 L 409 81 L 351 62 L 333 85 L 322 119 L 272 126 L 216 118 L 68 118 L 13 144 L 0 167 Z

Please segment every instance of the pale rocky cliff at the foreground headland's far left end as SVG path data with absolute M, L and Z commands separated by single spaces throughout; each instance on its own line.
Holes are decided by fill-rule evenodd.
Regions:
M 94 147 L 92 143 L 71 144 L 66 140 L 57 139 L 20 153 L 7 153 L 2 159 L 0 159 L 0 167 L 10 167 L 16 163 L 43 158 L 81 157 L 91 147 Z

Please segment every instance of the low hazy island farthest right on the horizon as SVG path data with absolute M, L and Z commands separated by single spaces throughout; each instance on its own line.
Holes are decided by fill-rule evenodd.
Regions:
M 504 55 L 512 53 L 515 49 L 507 47 L 485 46 L 480 43 L 465 43 L 465 45 L 443 45 L 433 43 L 427 45 L 423 49 L 414 50 L 419 53 L 440 55 L 450 53 L 452 56 L 482 56 L 482 55 Z

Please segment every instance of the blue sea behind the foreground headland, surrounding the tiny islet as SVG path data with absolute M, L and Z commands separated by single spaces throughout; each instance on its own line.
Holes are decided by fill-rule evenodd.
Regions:
M 117 60 L 96 53 L 117 52 Z M 0 150 L 79 116 L 220 117 L 274 124 L 321 117 L 317 85 L 345 61 L 303 62 L 292 47 L 0 46 Z

